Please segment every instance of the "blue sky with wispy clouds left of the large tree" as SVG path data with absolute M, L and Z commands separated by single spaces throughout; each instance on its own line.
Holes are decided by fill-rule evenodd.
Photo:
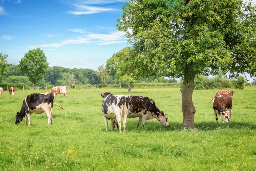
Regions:
M 18 64 L 40 47 L 49 66 L 97 70 L 129 46 L 116 29 L 128 0 L 0 0 L 0 52 Z

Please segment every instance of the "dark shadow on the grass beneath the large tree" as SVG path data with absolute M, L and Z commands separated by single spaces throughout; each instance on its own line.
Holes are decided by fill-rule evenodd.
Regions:
M 138 122 L 135 120 L 127 121 L 126 131 L 132 132 L 167 132 L 167 131 L 182 131 L 186 130 L 182 127 L 182 123 L 178 122 L 169 122 L 170 127 L 164 127 L 156 122 L 146 122 L 145 128 L 143 128 L 142 124 L 137 128 Z M 251 129 L 255 130 L 256 125 L 251 123 L 242 123 L 242 122 L 230 122 L 230 123 L 216 123 L 216 122 L 196 122 L 194 130 L 199 131 L 212 131 L 216 129 Z M 102 131 L 105 131 L 105 127 L 102 128 Z M 108 131 L 111 131 L 110 123 L 108 125 Z M 115 129 L 115 131 L 119 132 L 119 129 Z M 123 123 L 122 123 L 122 131 L 123 131 Z

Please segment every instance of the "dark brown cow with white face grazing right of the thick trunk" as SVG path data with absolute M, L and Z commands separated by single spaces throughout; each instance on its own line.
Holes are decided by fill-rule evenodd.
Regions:
M 223 123 L 230 122 L 232 112 L 232 96 L 228 93 L 219 94 L 215 97 L 213 102 L 213 111 L 215 114 L 216 122 L 218 122 L 218 115 L 221 114 Z

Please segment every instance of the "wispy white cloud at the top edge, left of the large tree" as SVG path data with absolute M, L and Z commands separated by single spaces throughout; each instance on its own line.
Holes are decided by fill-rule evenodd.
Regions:
M 126 2 L 127 0 L 75 0 L 68 1 L 69 6 L 73 10 L 69 10 L 68 12 L 73 15 L 86 15 L 86 14 L 95 14 L 105 11 L 116 11 L 119 9 L 115 8 L 107 8 L 101 7 L 100 5 L 112 4 L 116 2 Z

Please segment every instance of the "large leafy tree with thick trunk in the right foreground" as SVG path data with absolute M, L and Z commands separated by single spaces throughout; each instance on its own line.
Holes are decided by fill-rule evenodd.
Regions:
M 242 0 L 131 0 L 117 28 L 132 44 L 137 74 L 182 78 L 183 126 L 194 127 L 197 75 L 256 72 L 256 11 Z M 134 68 L 133 68 L 134 69 Z

